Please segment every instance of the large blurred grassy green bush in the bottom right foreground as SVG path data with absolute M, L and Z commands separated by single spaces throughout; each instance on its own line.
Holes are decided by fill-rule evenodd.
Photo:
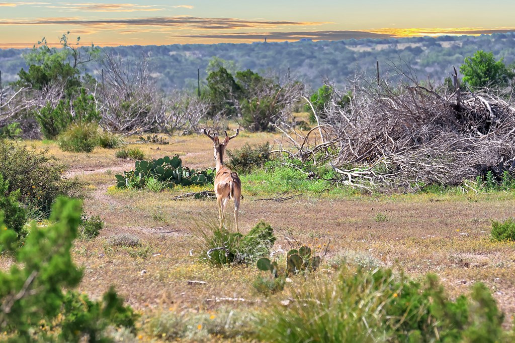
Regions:
M 269 342 L 511 341 L 488 288 L 475 284 L 469 298 L 451 300 L 433 275 L 418 282 L 344 266 L 331 282 L 305 283 L 287 308 L 274 304 L 256 334 Z

